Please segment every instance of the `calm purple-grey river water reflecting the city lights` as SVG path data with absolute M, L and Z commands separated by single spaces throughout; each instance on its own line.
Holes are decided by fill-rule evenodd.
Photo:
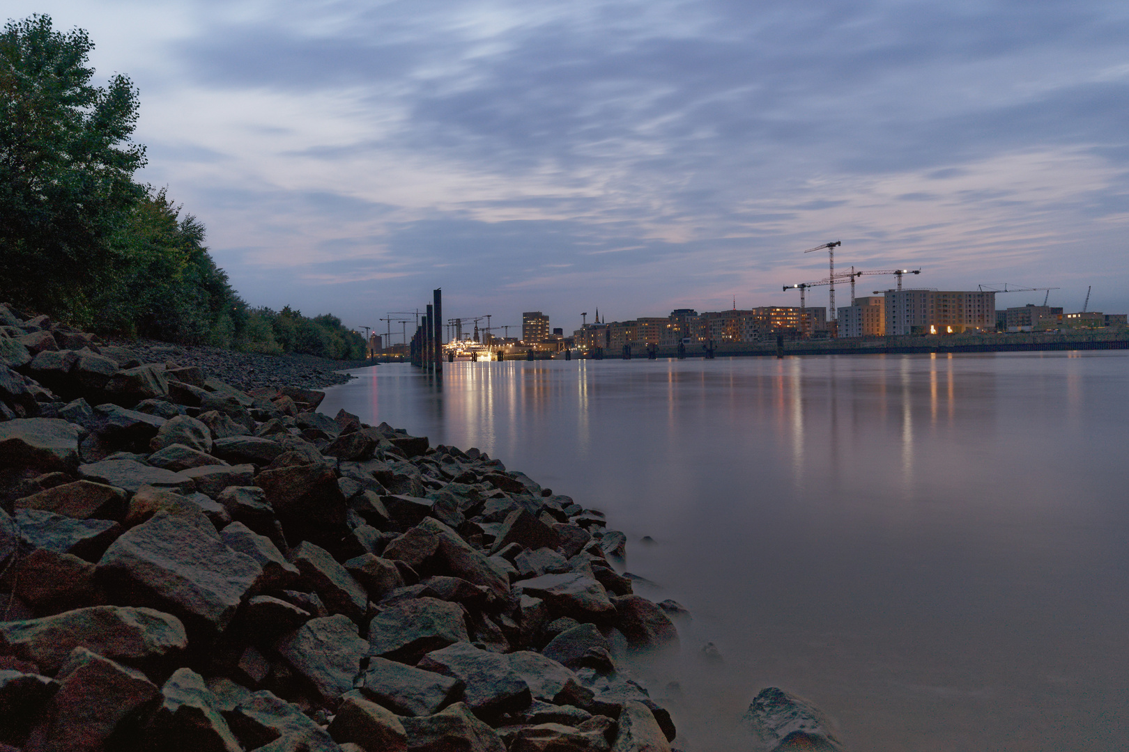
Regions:
M 692 612 L 638 669 L 676 746 L 751 749 L 778 685 L 857 751 L 1129 749 L 1129 353 L 444 368 L 322 409 L 604 511 L 636 592 Z

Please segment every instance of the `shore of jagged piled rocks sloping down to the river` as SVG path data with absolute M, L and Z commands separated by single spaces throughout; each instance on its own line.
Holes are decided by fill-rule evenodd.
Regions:
M 630 657 L 683 610 L 602 513 L 231 363 L 0 306 L 0 751 L 676 749 Z

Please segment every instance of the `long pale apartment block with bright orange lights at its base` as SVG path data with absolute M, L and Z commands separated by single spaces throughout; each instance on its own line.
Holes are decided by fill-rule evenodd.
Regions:
M 996 293 L 887 290 L 886 335 L 960 334 L 996 329 Z

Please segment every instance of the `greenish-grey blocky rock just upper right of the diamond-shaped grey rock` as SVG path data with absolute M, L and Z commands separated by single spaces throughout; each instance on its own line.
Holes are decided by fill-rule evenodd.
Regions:
M 369 655 L 415 663 L 431 651 L 469 643 L 463 607 L 434 598 L 403 601 L 373 618 Z

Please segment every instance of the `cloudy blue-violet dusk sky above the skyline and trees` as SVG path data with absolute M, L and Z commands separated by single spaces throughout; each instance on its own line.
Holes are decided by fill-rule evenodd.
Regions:
M 1129 310 L 1129 3 L 5 8 L 133 80 L 140 179 L 252 306 L 384 331 L 443 287 L 445 318 L 571 331 L 798 304 L 829 260 L 802 251 L 841 240 L 837 269 Z

